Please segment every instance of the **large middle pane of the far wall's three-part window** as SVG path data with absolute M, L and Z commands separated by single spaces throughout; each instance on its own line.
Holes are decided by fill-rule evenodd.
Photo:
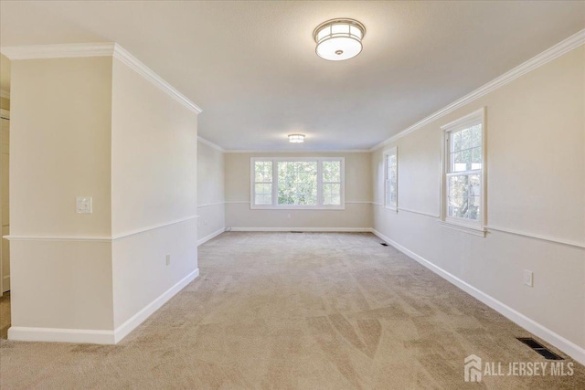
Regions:
M 278 204 L 317 204 L 317 163 L 278 162 Z

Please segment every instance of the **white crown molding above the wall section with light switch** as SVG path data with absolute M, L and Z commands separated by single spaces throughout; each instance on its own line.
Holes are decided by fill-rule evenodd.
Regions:
M 112 56 L 114 45 L 113 42 L 91 42 L 8 46 L 0 47 L 0 52 L 12 61 L 16 59 L 108 57 Z

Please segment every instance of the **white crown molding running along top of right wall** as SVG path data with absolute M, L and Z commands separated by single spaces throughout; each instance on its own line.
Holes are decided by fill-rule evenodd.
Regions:
M 463 107 L 465 104 L 471 103 L 473 100 L 477 100 L 482 96 L 490 93 L 491 91 L 505 86 L 505 84 L 509 83 L 510 81 L 518 79 L 519 77 L 527 74 L 529 71 L 545 65 L 546 63 L 552 61 L 553 59 L 558 58 L 566 53 L 569 53 L 569 51 L 573 50 L 574 48 L 580 47 L 583 44 L 585 44 L 585 29 L 580 30 L 578 33 L 568 37 L 567 39 L 560 41 L 557 45 L 549 47 L 547 50 L 538 54 L 536 57 L 530 58 L 526 62 L 518 65 L 516 68 L 508 70 L 502 76 L 499 76 L 493 79 L 492 81 L 484 84 L 477 90 L 473 90 L 473 92 L 463 96 L 463 98 L 453 101 L 448 106 L 443 107 L 441 110 L 432 113 L 422 121 L 418 121 L 409 128 L 403 130 L 402 132 L 399 132 L 391 136 L 387 140 L 378 143 L 376 146 L 369 149 L 369 152 L 374 152 L 379 148 L 387 145 L 389 142 L 394 142 L 399 138 L 409 134 L 410 132 L 415 132 L 419 130 L 426 124 L 429 124 L 432 121 L 436 121 L 442 116 L 447 115 L 448 113 Z

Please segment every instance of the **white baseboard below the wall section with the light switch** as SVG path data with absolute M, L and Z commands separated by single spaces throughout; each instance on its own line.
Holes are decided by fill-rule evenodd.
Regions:
M 98 331 L 93 329 L 31 328 L 27 326 L 11 326 L 8 329 L 8 340 L 16 340 L 19 342 L 53 343 L 115 343 L 113 331 Z

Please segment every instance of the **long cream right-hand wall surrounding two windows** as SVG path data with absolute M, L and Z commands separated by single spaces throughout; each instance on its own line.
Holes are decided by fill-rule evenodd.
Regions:
M 398 146 L 399 213 L 374 206 L 379 234 L 516 311 L 525 323 L 536 322 L 541 337 L 571 350 L 581 363 L 585 249 L 537 237 L 585 244 L 584 87 L 581 46 L 388 144 Z M 441 125 L 481 107 L 487 115 L 487 237 L 437 222 Z M 384 150 L 372 153 L 378 204 Z M 525 269 L 534 272 L 532 288 L 523 283 Z

